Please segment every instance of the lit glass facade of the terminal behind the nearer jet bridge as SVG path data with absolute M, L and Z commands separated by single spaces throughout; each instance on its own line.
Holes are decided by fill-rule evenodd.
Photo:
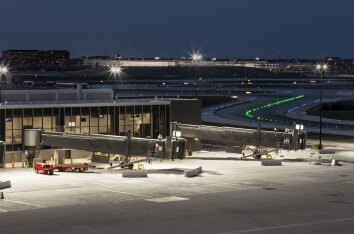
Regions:
M 43 107 L 0 110 L 0 141 L 7 151 L 22 149 L 23 130 L 165 137 L 170 105 Z

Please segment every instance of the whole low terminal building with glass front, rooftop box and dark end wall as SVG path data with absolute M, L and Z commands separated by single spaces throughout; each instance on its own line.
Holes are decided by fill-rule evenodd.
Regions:
M 23 151 L 24 129 L 157 138 L 170 123 L 201 124 L 193 99 L 117 99 L 111 89 L 1 90 L 0 142 Z

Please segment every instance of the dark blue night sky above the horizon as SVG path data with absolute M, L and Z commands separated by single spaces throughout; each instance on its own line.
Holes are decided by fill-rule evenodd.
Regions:
M 0 50 L 354 57 L 353 0 L 0 0 Z

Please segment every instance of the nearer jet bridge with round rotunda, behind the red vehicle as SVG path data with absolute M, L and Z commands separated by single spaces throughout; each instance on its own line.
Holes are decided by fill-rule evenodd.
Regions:
M 73 134 L 24 130 L 24 147 L 32 152 L 45 148 L 66 148 L 131 156 L 183 159 L 186 141 L 183 138 L 148 139 L 101 134 Z M 34 153 L 33 153 L 34 155 Z M 33 156 L 34 157 L 34 156 Z

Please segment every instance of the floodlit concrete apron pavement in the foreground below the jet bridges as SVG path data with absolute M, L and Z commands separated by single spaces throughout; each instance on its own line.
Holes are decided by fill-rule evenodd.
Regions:
M 205 152 L 207 154 L 207 152 Z M 218 152 L 209 152 L 218 156 Z M 226 154 L 226 153 L 224 153 Z M 185 178 L 198 166 L 203 173 Z M 120 170 L 35 174 L 0 170 L 1 233 L 352 233 L 354 164 L 182 160 Z

